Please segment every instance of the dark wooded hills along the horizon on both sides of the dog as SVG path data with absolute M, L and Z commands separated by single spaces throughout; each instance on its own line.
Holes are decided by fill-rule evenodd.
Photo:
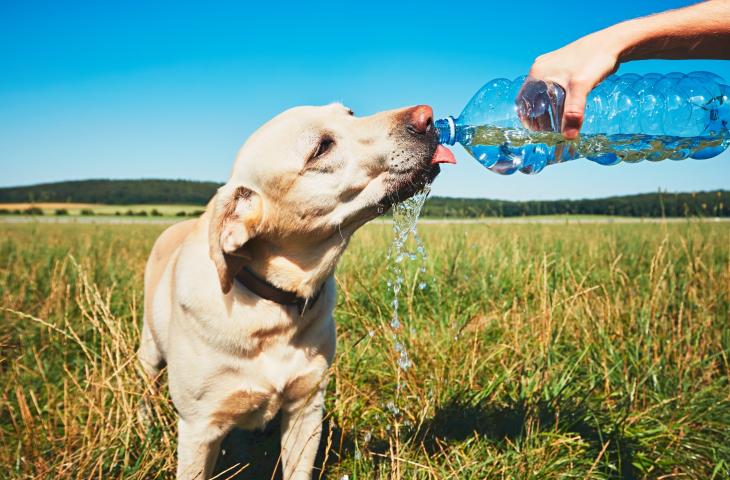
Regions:
M 69 202 L 205 205 L 220 184 L 190 180 L 79 180 L 0 188 L 0 203 Z M 629 217 L 730 217 L 730 191 L 666 193 L 582 200 L 505 201 L 430 197 L 423 215 L 479 218 L 524 215 L 620 215 Z

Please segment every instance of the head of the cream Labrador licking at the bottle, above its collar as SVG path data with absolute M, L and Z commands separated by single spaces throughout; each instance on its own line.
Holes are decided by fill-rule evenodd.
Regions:
M 211 203 L 223 291 L 264 246 L 302 271 L 333 268 L 350 235 L 433 180 L 447 152 L 426 106 L 356 117 L 332 104 L 278 115 L 246 141 Z

